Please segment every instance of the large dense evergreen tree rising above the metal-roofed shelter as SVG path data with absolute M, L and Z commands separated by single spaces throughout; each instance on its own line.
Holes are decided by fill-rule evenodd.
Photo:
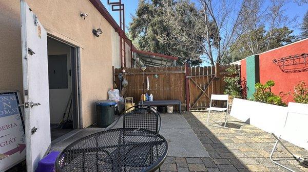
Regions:
M 198 40 L 198 35 L 191 34 L 191 15 L 198 11 L 194 4 L 186 1 L 175 0 L 140 0 L 136 14 L 129 23 L 129 36 L 135 45 L 144 51 L 176 56 L 180 59 L 179 65 L 188 62 L 190 65 L 202 63 L 202 45 L 181 46 L 186 39 Z M 181 18 L 185 30 L 181 35 L 188 35 L 186 39 L 174 34 L 174 26 L 171 26 L 168 18 L 170 15 Z

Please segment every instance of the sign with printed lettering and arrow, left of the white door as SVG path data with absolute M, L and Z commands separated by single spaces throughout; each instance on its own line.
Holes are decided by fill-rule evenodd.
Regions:
M 25 134 L 16 93 L 0 93 L 0 171 L 26 157 Z

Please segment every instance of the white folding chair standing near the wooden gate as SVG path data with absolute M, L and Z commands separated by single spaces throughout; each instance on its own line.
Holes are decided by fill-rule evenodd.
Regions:
M 211 120 L 213 120 L 213 118 L 210 116 L 210 111 L 218 111 L 218 112 L 224 112 L 225 120 L 224 120 L 224 126 L 223 127 L 226 127 L 226 124 L 227 124 L 227 112 L 228 112 L 228 100 L 229 100 L 229 95 L 228 94 L 211 94 L 209 108 L 206 109 L 208 111 L 207 121 L 206 121 L 207 125 L 215 126 L 215 125 L 209 124 L 208 120 L 209 120 L 209 118 L 211 118 Z M 226 108 L 212 107 L 212 103 L 213 103 L 212 101 L 227 101 L 227 107 Z M 213 120 L 213 121 L 216 124 L 218 124 L 218 123 L 223 124 L 223 122 L 221 122 L 221 121 L 216 121 L 216 120 Z M 215 127 L 221 127 L 221 126 L 215 126 Z

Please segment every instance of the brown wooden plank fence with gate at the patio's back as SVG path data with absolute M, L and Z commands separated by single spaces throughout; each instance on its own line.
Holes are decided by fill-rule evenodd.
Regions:
M 144 87 L 141 68 L 118 68 L 113 69 L 113 87 L 120 89 L 118 76 L 123 73 L 123 77 L 129 83 L 125 96 L 133 97 L 135 103 L 140 101 L 141 94 L 147 92 L 149 95 L 153 94 L 154 100 L 180 100 L 182 109 L 186 107 L 189 110 L 187 108 L 189 104 L 190 109 L 201 110 L 209 106 L 211 94 L 223 93 L 225 87 L 223 77 L 227 75 L 225 72 L 227 67 L 226 65 L 221 65 L 218 69 L 214 66 L 148 67 L 145 70 Z M 149 90 L 146 85 L 147 77 L 149 77 Z

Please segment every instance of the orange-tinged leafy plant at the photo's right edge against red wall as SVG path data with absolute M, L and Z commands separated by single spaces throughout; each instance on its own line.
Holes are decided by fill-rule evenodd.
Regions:
M 294 101 L 296 103 L 308 104 L 308 85 L 305 83 L 299 82 L 294 86 Z

